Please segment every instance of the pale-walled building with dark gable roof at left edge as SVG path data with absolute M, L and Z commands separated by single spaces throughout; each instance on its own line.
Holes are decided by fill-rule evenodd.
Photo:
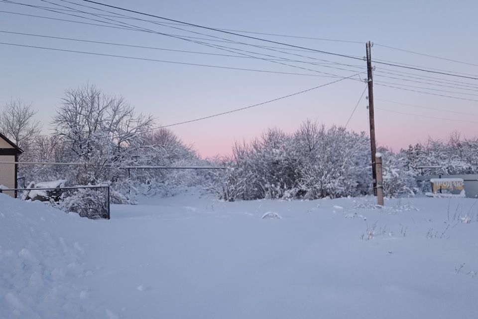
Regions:
M 0 185 L 2 188 L 18 188 L 17 184 L 17 164 L 13 164 L 18 161 L 18 155 L 23 151 L 16 146 L 13 142 L 8 140 L 3 134 L 0 133 L 0 162 L 12 162 L 0 163 Z M 16 197 L 16 191 L 3 191 L 12 197 Z

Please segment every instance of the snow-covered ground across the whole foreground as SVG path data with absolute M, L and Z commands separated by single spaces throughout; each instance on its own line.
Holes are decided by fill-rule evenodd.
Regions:
M 478 318 L 478 200 L 373 203 L 0 194 L 0 318 Z

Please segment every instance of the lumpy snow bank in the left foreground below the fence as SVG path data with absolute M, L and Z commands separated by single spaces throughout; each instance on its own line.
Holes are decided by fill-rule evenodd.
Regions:
M 78 242 L 88 222 L 77 214 L 0 194 L 2 319 L 92 318 L 100 312 L 104 317 L 105 309 L 78 284 L 79 278 L 92 274 Z

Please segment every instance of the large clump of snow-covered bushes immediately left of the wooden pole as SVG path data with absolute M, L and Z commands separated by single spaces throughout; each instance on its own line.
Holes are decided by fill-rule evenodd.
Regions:
M 328 130 L 310 121 L 293 135 L 268 130 L 250 144 L 236 144 L 208 187 L 226 200 L 321 198 L 366 194 L 371 174 L 364 133 Z

